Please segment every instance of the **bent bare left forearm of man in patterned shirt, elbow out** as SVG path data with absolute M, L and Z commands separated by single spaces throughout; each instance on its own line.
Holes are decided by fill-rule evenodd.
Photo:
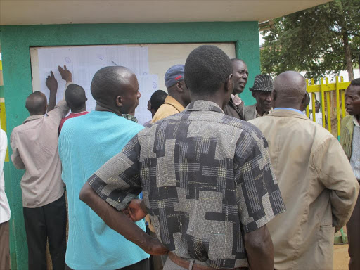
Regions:
M 148 254 L 163 255 L 167 253 L 167 248 L 157 238 L 149 236 L 123 212 L 118 212 L 114 207 L 106 203 L 105 200 L 96 194 L 89 183 L 86 182 L 82 187 L 79 199 L 86 203 L 86 205 L 89 205 L 111 229 L 117 231 L 132 243 L 139 245 Z

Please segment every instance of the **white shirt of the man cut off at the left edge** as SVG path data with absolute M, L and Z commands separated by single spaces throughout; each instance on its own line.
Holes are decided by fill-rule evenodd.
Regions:
M 4 130 L 0 129 L 0 224 L 10 219 L 10 207 L 5 193 L 4 162 L 8 148 L 8 138 Z

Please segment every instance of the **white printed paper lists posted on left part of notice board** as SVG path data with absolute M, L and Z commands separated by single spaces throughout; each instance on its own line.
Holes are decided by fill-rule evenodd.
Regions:
M 141 98 L 136 108 L 136 117 L 139 124 L 151 119 L 151 113 L 147 110 L 148 100 L 151 94 L 158 89 L 158 76 L 149 74 L 148 47 L 147 46 L 75 46 L 39 48 L 40 88 L 34 91 L 43 92 L 49 100 L 49 90 L 46 87 L 46 77 L 53 71 L 58 80 L 58 103 L 65 94 L 65 81 L 61 79 L 58 65 L 66 65 L 72 72 L 72 82 L 81 85 L 86 91 L 86 109 L 94 110 L 96 102 L 91 96 L 91 80 L 96 71 L 106 66 L 122 65 L 132 70 L 139 80 Z

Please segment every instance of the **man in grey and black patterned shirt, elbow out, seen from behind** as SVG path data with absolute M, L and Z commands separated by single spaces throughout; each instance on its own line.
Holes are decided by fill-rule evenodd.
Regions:
M 231 73 L 216 46 L 192 51 L 188 107 L 140 131 L 80 192 L 108 226 L 146 252 L 169 250 L 164 269 L 274 269 L 266 223 L 285 206 L 266 139 L 221 109 L 233 91 Z M 134 200 L 141 191 L 143 201 Z M 166 248 L 127 213 L 133 220 L 150 214 Z

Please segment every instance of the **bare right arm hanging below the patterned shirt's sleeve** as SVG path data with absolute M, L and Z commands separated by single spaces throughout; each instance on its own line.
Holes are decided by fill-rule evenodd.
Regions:
M 266 225 L 245 234 L 250 269 L 274 270 L 274 246 Z

